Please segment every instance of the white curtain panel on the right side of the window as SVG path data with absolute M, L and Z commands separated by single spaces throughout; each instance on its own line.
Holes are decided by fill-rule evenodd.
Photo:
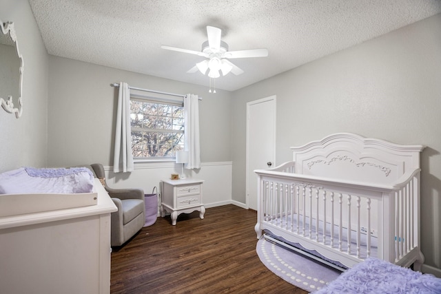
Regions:
M 188 162 L 185 169 L 201 168 L 201 148 L 199 146 L 199 98 L 187 94 L 184 98 L 185 151 L 188 151 Z

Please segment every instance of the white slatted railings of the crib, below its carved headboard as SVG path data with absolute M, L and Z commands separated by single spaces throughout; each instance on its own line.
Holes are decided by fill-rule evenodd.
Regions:
M 404 266 L 419 258 L 419 171 L 394 185 L 293 171 L 291 162 L 256 171 L 258 238 L 267 229 L 347 267 L 369 256 Z

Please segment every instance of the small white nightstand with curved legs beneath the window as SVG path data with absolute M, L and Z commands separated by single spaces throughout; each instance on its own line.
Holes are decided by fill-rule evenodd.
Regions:
M 205 207 L 202 200 L 203 180 L 186 178 L 183 180 L 162 180 L 161 216 L 165 211 L 172 213 L 172 224 L 181 213 L 200 211 L 199 217 L 204 218 Z

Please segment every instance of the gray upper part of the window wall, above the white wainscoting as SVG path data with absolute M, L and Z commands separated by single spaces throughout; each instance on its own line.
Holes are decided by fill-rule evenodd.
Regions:
M 49 72 L 48 166 L 113 165 L 118 88 L 110 84 L 121 81 L 133 87 L 202 96 L 201 161 L 232 160 L 230 92 L 209 94 L 208 87 L 56 56 L 50 56 Z

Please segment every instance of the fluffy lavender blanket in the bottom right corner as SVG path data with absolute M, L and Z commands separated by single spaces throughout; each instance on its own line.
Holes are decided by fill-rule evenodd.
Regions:
M 314 293 L 441 293 L 441 279 L 367 258 Z

